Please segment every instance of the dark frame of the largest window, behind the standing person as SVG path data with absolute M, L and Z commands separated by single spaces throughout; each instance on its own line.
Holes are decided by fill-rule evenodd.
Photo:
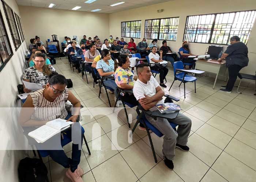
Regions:
M 216 17 L 217 17 L 217 15 L 218 14 L 225 14 L 225 13 L 237 13 L 237 12 L 245 12 L 245 11 L 256 11 L 255 9 L 252 9 L 252 10 L 244 10 L 244 11 L 231 11 L 231 12 L 218 12 L 218 13 L 208 13 L 208 14 L 201 14 L 201 15 L 189 15 L 189 16 L 204 16 L 204 15 L 215 15 L 215 17 L 214 17 L 214 20 L 213 20 L 213 22 L 212 22 L 212 27 L 211 27 L 211 32 L 210 32 L 210 37 L 209 37 L 209 40 L 208 40 L 208 42 L 207 43 L 203 43 L 203 42 L 195 42 L 195 41 L 193 41 L 193 42 L 191 42 L 191 41 L 188 41 L 188 42 L 190 42 L 190 43 L 198 43 L 198 44 L 214 44 L 214 45 L 223 45 L 223 46 L 229 46 L 230 44 L 229 44 L 229 40 L 227 41 L 227 44 L 218 44 L 218 43 L 211 43 L 211 39 L 212 39 L 212 35 L 213 35 L 213 31 L 214 31 L 214 27 L 215 27 L 215 20 L 216 20 Z M 186 40 L 184 40 L 184 38 L 185 38 L 185 32 L 186 32 L 186 26 L 187 26 L 187 20 L 188 20 L 188 17 L 189 16 L 187 16 L 186 17 L 186 21 L 185 21 L 185 28 L 184 28 L 184 33 L 183 33 L 183 39 L 182 39 L 182 41 L 186 41 Z M 255 22 L 256 22 L 256 19 L 255 19 Z M 255 22 L 253 22 L 253 25 L 255 24 Z M 234 20 L 233 20 L 233 23 L 234 23 Z M 233 23 L 232 23 L 232 25 L 233 25 Z M 232 28 L 232 27 L 231 27 Z M 230 29 L 231 30 L 231 29 Z M 216 34 L 215 34 L 216 35 Z M 250 35 L 251 35 L 251 33 L 250 33 Z M 250 36 L 249 35 L 249 36 Z M 229 32 L 229 39 L 230 39 L 230 32 Z M 248 43 L 248 42 L 247 42 Z M 247 43 L 246 43 L 246 45 L 247 45 Z

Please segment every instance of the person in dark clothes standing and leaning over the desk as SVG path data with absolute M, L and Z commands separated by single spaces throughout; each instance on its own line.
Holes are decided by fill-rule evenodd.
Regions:
M 247 46 L 240 42 L 238 36 L 233 36 L 230 38 L 230 46 L 227 47 L 226 51 L 222 54 L 218 61 L 226 60 L 226 66 L 229 70 L 229 80 L 226 86 L 221 86 L 220 89 L 223 92 L 231 93 L 234 84 L 237 79 L 239 71 L 248 65 L 248 48 Z

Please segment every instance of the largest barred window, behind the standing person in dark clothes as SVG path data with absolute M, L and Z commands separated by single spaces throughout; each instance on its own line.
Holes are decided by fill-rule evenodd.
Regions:
M 246 44 L 255 18 L 256 11 L 187 16 L 183 41 L 228 45 L 237 35 Z

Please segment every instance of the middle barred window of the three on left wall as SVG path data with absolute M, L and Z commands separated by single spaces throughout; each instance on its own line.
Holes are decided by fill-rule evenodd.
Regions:
M 5 17 L 7 19 L 8 25 L 9 25 L 9 29 L 11 32 L 11 36 L 12 36 L 12 41 L 14 43 L 15 46 L 15 50 L 17 50 L 21 44 L 20 42 L 20 37 L 19 37 L 19 32 L 17 29 L 17 25 L 14 19 L 14 12 L 12 11 L 12 9 L 3 2 L 3 7 L 4 7 L 4 12 L 5 12 Z

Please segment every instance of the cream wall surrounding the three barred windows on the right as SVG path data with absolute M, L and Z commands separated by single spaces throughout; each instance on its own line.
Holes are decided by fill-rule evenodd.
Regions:
M 162 13 L 157 13 L 157 9 L 164 9 Z M 150 5 L 146 7 L 131 9 L 127 11 L 112 13 L 109 16 L 109 32 L 113 37 L 121 36 L 121 21 L 142 20 L 141 39 L 135 39 L 135 43 L 144 37 L 145 20 L 165 17 L 179 16 L 178 34 L 176 41 L 168 41 L 169 46 L 173 51 L 177 52 L 182 46 L 186 17 L 188 15 L 201 15 L 210 13 L 232 12 L 255 10 L 255 0 L 173 0 L 165 3 Z M 124 38 L 129 41 L 129 38 Z M 147 40 L 150 43 L 152 40 Z M 203 55 L 206 48 L 210 44 L 189 43 L 189 48 L 193 54 Z M 158 41 L 158 46 L 162 46 L 162 41 Z M 249 65 L 241 70 L 248 74 L 255 74 L 256 70 L 256 22 L 252 29 L 251 36 L 247 43 L 249 50 Z M 227 46 L 224 46 L 226 49 Z

